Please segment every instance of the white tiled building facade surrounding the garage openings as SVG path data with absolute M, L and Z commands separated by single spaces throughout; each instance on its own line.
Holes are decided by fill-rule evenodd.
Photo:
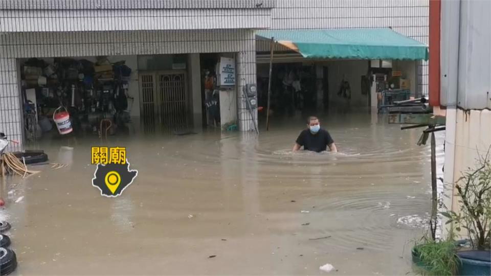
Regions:
M 0 130 L 22 140 L 17 59 L 235 53 L 237 120 L 253 129 L 242 87 L 256 82 L 255 30 L 392 27 L 428 43 L 428 0 L 6 0 L 0 3 Z M 428 66 L 418 66 L 427 93 Z

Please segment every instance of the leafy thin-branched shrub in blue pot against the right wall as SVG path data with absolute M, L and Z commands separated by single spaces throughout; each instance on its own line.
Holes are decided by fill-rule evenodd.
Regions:
M 478 168 L 468 170 L 455 186 L 459 212 L 442 212 L 465 240 L 457 255 L 460 275 L 491 275 L 491 162 L 489 152 L 479 158 Z

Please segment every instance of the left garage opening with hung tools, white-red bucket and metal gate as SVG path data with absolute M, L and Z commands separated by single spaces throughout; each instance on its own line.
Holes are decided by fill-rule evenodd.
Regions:
M 18 68 L 27 141 L 192 124 L 187 55 L 30 58 L 19 59 Z M 71 130 L 58 131 L 65 114 Z

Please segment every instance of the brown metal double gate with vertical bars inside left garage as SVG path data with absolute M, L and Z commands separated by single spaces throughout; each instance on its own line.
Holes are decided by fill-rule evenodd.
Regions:
M 145 123 L 166 127 L 188 123 L 187 76 L 185 71 L 140 73 L 141 117 Z

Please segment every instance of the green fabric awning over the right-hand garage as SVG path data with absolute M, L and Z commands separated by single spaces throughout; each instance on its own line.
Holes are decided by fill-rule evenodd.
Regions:
M 428 46 L 389 28 L 330 30 L 265 30 L 271 39 L 304 58 L 428 60 Z

